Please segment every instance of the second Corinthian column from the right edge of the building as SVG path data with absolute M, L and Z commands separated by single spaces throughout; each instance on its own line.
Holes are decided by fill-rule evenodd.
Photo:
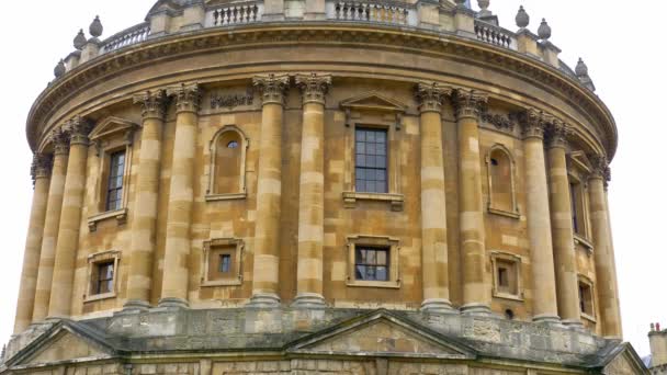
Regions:
M 556 271 L 556 298 L 563 323 L 581 326 L 579 318 L 579 289 L 572 225 L 572 197 L 565 147 L 572 130 L 555 121 L 550 127 L 547 143 L 551 226 Z

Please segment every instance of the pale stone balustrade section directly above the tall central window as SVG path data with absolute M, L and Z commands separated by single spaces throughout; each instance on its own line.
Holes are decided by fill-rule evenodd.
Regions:
M 406 3 L 374 1 L 331 1 L 327 2 L 327 19 L 337 21 L 358 21 L 416 26 L 416 9 Z

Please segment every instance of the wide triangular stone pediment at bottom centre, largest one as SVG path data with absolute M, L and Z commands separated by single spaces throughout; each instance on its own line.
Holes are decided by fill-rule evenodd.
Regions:
M 292 353 L 474 359 L 472 349 L 386 310 L 353 318 L 298 340 Z

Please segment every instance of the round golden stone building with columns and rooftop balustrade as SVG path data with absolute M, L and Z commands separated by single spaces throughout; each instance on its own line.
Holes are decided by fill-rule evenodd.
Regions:
M 27 118 L 3 374 L 645 374 L 617 127 L 521 9 L 160 0 Z

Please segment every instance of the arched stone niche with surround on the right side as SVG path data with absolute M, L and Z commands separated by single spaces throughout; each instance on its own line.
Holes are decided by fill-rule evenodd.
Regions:
M 518 217 L 515 160 L 502 145 L 491 147 L 486 157 L 489 212 Z

